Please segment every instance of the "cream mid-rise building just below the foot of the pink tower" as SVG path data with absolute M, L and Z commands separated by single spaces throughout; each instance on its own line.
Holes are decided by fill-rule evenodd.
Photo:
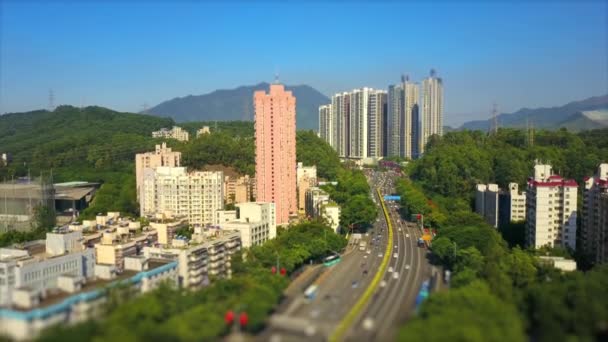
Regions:
M 241 235 L 244 248 L 261 245 L 277 236 L 274 203 L 239 203 L 235 217 L 219 224 L 222 229 L 235 230 Z

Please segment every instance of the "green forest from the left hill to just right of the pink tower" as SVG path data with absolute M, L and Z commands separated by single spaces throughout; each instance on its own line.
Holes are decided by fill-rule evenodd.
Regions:
M 135 154 L 151 151 L 163 141 L 153 139 L 152 131 L 174 124 L 170 118 L 102 107 L 60 106 L 53 112 L 2 115 L 0 153 L 12 154 L 13 161 L 8 167 L 0 166 L 0 180 L 52 171 L 55 182 L 100 182 L 102 188 L 83 213 L 85 217 L 107 210 L 135 215 Z M 184 166 L 199 169 L 220 164 L 254 174 L 252 122 L 188 122 L 179 126 L 190 132 L 190 141 L 166 142 L 182 152 Z M 213 134 L 196 138 L 196 130 L 202 126 L 210 126 Z M 340 161 L 314 132 L 298 132 L 297 146 L 298 160 L 316 164 L 321 177 L 336 177 Z

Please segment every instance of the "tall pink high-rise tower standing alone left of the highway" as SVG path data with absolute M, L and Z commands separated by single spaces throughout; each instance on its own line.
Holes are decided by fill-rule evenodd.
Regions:
M 277 224 L 297 213 L 296 98 L 281 84 L 253 94 L 258 202 L 273 202 Z

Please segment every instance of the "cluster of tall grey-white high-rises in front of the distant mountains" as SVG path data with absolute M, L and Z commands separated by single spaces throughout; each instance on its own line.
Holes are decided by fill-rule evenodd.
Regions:
M 443 135 L 443 110 L 443 80 L 431 69 L 421 86 L 401 76 L 388 91 L 333 95 L 319 106 L 319 137 L 341 158 L 418 158 L 431 136 Z

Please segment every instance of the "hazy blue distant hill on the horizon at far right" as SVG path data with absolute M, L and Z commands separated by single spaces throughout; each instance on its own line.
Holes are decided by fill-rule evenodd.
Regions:
M 515 113 L 500 114 L 500 127 L 526 127 L 526 120 L 535 128 L 557 129 L 566 127 L 570 130 L 602 128 L 608 126 L 608 119 L 603 116 L 608 111 L 608 95 L 594 96 L 582 101 L 570 102 L 561 107 L 522 108 Z M 460 129 L 487 131 L 492 120 L 465 122 Z

